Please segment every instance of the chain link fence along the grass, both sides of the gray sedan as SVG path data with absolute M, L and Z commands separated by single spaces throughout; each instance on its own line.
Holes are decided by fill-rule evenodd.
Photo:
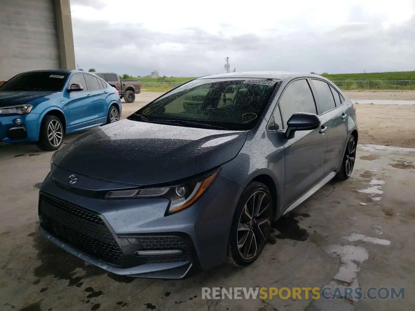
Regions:
M 415 80 L 332 81 L 341 90 L 415 90 Z M 183 82 L 142 82 L 141 89 L 148 92 L 166 92 Z

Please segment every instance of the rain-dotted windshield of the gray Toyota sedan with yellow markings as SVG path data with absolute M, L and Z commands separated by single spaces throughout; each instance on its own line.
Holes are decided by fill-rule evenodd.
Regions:
M 128 119 L 193 127 L 253 129 L 278 79 L 217 78 L 185 83 Z

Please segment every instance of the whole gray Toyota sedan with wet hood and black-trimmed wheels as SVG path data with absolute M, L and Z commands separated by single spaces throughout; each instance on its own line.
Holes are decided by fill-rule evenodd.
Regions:
M 351 174 L 355 110 L 319 75 L 210 75 L 57 151 L 40 233 L 118 275 L 182 278 L 261 254 L 271 222 Z

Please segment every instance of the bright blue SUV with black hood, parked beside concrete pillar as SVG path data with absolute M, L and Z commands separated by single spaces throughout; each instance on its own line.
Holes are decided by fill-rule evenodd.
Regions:
M 65 134 L 118 121 L 121 100 L 105 80 L 78 70 L 20 73 L 0 87 L 0 140 L 58 149 Z

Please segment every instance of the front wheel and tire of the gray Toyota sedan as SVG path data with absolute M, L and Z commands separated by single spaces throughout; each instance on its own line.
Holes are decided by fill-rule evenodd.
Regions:
M 230 265 L 246 267 L 259 257 L 269 236 L 272 215 L 273 202 L 268 187 L 261 182 L 251 182 L 242 192 L 232 220 L 227 248 Z

